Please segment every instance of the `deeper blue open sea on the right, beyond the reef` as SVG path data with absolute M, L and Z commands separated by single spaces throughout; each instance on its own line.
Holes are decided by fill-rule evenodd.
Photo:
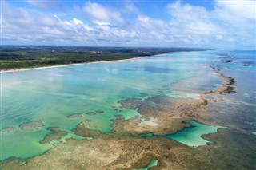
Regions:
M 228 102 L 210 103 L 208 110 L 215 113 L 218 123 L 234 125 L 251 134 L 256 131 L 256 51 L 230 51 L 225 55 L 233 62 L 218 61 L 215 65 L 234 78 L 236 93 L 225 96 Z

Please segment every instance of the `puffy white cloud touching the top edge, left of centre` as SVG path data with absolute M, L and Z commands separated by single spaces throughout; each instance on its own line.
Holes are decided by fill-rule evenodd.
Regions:
M 83 6 L 83 11 L 86 17 L 92 19 L 94 22 L 125 23 L 125 20 L 117 10 L 110 9 L 98 3 L 86 2 L 85 6 Z

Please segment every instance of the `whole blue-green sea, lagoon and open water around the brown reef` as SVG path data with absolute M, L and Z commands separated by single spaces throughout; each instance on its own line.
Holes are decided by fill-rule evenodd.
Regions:
M 202 141 L 202 135 L 211 132 L 206 127 L 218 126 L 254 136 L 255 53 L 242 50 L 175 52 L 128 61 L 1 73 L 1 129 L 10 132 L 1 133 L 0 160 L 11 156 L 30 158 L 41 155 L 65 143 L 68 138 L 84 140 L 86 137 L 74 132 L 81 121 L 90 121 L 87 128 L 113 134 L 113 122 L 118 115 L 125 120 L 144 117 L 138 108 L 122 107 L 118 101 L 158 96 L 174 101 L 198 99 L 201 93 L 216 90 L 223 84 L 223 79 L 210 66 L 219 69 L 226 77 L 234 78 L 235 93 L 223 94 L 222 100 L 210 102 L 206 117 L 182 117 L 187 122 L 197 121 L 198 130 L 188 130 L 195 124 L 190 123 L 190 128 L 179 129 L 181 140 L 169 139 L 187 145 L 192 143 L 192 146 L 206 145 L 207 141 L 212 142 Z M 212 123 L 207 125 L 207 122 Z M 40 142 L 53 133 L 50 130 L 53 127 L 66 132 L 65 135 L 48 143 Z M 218 133 L 218 128 L 213 132 Z M 186 142 L 182 136 L 188 136 Z

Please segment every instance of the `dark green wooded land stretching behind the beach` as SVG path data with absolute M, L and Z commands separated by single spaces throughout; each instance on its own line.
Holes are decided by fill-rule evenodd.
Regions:
M 0 70 L 68 65 L 93 61 L 113 61 L 175 51 L 202 49 L 122 48 L 122 47 L 21 47 L 2 46 Z

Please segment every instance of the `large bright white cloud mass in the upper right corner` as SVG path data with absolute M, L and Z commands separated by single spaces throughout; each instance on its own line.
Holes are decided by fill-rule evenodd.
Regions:
M 170 34 L 186 34 L 191 44 L 250 44 L 256 36 L 255 3 L 217 0 L 214 10 L 181 1 L 170 3 L 166 6 L 171 18 Z

